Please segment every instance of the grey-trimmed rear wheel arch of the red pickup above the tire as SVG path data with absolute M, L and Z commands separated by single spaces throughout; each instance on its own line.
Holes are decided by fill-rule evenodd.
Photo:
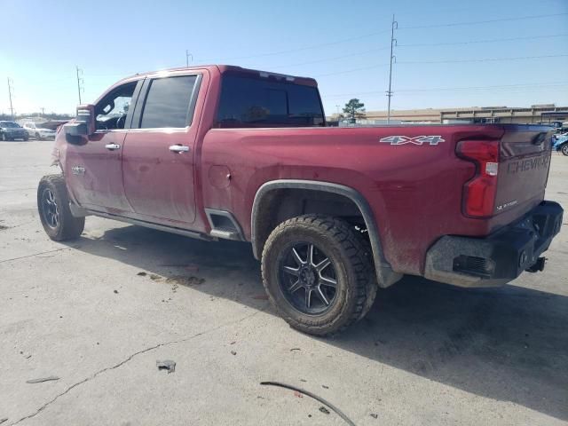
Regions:
M 266 182 L 260 186 L 252 206 L 250 241 L 255 257 L 260 258 L 264 243 L 272 230 L 281 222 L 306 213 L 330 214 L 329 211 L 306 211 L 306 195 L 322 198 L 325 202 L 334 200 L 349 201 L 342 209 L 342 214 L 335 216 L 359 215 L 367 228 L 368 239 L 373 253 L 376 278 L 380 287 L 386 288 L 398 281 L 402 274 L 392 271 L 389 262 L 384 257 L 383 246 L 373 212 L 361 193 L 357 190 L 331 182 L 320 182 L 301 179 L 280 179 Z M 283 202 L 291 197 L 296 202 Z M 299 197 L 299 200 L 297 199 Z M 349 204 L 349 205 L 348 205 Z M 282 207 L 282 209 L 280 209 Z M 332 213 L 333 215 L 333 213 Z M 355 217 L 355 220 L 357 218 Z

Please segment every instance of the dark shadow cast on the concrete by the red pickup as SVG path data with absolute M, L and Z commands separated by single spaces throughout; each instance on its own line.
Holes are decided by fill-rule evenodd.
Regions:
M 100 238 L 83 237 L 73 247 L 174 282 L 205 279 L 194 288 L 265 306 L 258 297 L 264 294 L 260 265 L 247 243 L 210 243 L 129 225 Z M 238 290 L 216 280 L 221 277 L 238 283 Z M 566 296 L 512 285 L 454 288 L 406 277 L 379 292 L 365 319 L 323 342 L 377 365 L 568 419 Z

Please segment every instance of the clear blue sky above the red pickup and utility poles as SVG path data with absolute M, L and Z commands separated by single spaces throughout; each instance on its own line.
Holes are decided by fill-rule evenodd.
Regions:
M 0 113 L 9 112 L 8 76 L 17 114 L 40 107 L 73 113 L 75 65 L 83 69 L 83 102 L 90 102 L 123 76 L 184 66 L 186 49 L 193 65 L 314 76 L 327 114 L 355 97 L 367 110 L 384 110 L 393 13 L 399 28 L 393 109 L 568 105 L 568 0 L 0 0 L 0 6 Z M 455 25 L 487 20 L 494 21 Z

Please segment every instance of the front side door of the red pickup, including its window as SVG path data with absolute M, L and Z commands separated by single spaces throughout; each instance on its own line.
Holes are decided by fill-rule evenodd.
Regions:
M 86 209 L 121 216 L 132 211 L 122 184 L 122 146 L 141 84 L 124 83 L 109 91 L 95 105 L 95 133 L 82 144 L 67 144 L 67 185 Z

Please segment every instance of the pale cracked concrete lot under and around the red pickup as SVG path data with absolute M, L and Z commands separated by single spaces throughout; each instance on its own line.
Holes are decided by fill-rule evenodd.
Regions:
M 58 171 L 52 145 L 0 143 L 3 426 L 345 424 L 263 381 L 357 425 L 568 421 L 568 226 L 545 272 L 475 290 L 408 278 L 324 340 L 274 314 L 247 244 L 97 217 L 50 241 L 36 184 Z M 553 154 L 548 199 L 568 206 L 567 183 Z

